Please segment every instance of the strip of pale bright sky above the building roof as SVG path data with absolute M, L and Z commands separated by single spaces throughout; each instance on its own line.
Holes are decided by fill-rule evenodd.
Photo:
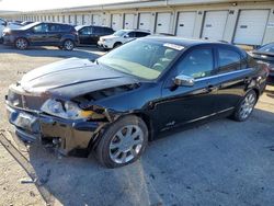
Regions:
M 0 11 L 34 11 L 122 1 L 130 0 L 0 0 Z

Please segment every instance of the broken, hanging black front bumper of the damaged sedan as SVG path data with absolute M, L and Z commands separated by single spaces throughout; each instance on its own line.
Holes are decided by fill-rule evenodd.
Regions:
M 16 108 L 7 102 L 9 122 L 15 126 L 16 136 L 24 142 L 55 142 L 62 154 L 87 150 L 102 124 L 70 121 L 43 113 Z

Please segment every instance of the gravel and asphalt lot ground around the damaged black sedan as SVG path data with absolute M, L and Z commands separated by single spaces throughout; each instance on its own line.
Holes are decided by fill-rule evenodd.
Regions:
M 8 85 L 38 66 L 69 57 L 95 58 L 95 48 L 18 52 L 0 45 L 0 129 Z M 42 187 L 0 144 L 0 205 L 273 205 L 274 87 L 246 123 L 220 119 L 150 144 L 138 162 L 115 170 L 93 157 L 60 158 L 39 146 L 23 152 Z M 42 195 L 41 195 L 42 194 Z

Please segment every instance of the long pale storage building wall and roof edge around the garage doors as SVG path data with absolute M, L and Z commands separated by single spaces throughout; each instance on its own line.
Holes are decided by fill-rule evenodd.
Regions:
M 191 4 L 191 3 L 194 4 Z M 236 2 L 236 3 L 232 3 Z M 88 14 L 90 18 L 88 20 L 89 24 L 92 24 L 94 22 L 94 19 L 96 19 L 98 25 L 106 25 L 111 26 L 111 14 L 112 13 L 121 13 L 122 14 L 122 27 L 124 27 L 124 18 L 126 13 L 134 13 L 135 20 L 134 24 L 135 27 L 141 27 L 139 25 L 140 20 L 139 15 L 140 13 L 149 13 L 149 26 L 148 30 L 151 32 L 156 32 L 156 23 L 157 23 L 157 13 L 161 12 L 170 12 L 172 13 L 172 20 L 167 24 L 169 24 L 169 33 L 175 34 L 176 27 L 178 27 L 178 15 L 179 12 L 184 11 L 193 11 L 196 12 L 195 18 L 195 26 L 193 31 L 193 37 L 199 38 L 203 34 L 203 25 L 205 20 L 205 14 L 207 11 L 213 10 L 227 10 L 228 16 L 227 16 L 227 23 L 225 26 L 222 41 L 227 42 L 233 42 L 236 27 L 239 19 L 239 14 L 241 10 L 261 10 L 261 9 L 269 9 L 270 10 L 270 16 L 266 22 L 266 27 L 263 35 L 262 44 L 274 42 L 274 1 L 271 0 L 256 0 L 256 1 L 243 1 L 243 0 L 236 0 L 236 1 L 229 1 L 229 0 L 169 0 L 169 1 L 150 1 L 150 2 L 136 2 L 132 4 L 127 3 L 119 3 L 119 4 L 113 4 L 113 5 L 103 5 L 103 7 L 90 7 L 90 8 L 76 8 L 76 9 L 64 9 L 64 10 L 52 10 L 52 11 L 43 11 L 41 12 L 26 12 L 26 13 L 19 13 L 19 14 L 7 14 L 7 19 L 21 19 L 24 21 L 33 21 L 35 18 L 37 19 L 37 15 L 43 15 L 43 18 L 39 18 L 42 21 L 53 21 L 53 15 L 60 15 L 60 22 L 62 22 L 61 15 L 65 15 L 65 22 L 68 22 L 68 15 L 70 15 L 70 23 L 75 24 L 75 15 L 80 15 L 80 22 L 82 22 L 82 14 Z M 55 16 L 55 21 L 57 21 Z M 94 18 L 96 16 L 96 18 Z M 45 19 L 46 18 L 46 19 Z

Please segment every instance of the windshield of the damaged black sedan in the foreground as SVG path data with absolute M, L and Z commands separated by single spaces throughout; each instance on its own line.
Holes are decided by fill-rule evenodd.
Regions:
M 110 52 L 98 62 L 127 75 L 155 80 L 182 49 L 178 45 L 138 39 Z

